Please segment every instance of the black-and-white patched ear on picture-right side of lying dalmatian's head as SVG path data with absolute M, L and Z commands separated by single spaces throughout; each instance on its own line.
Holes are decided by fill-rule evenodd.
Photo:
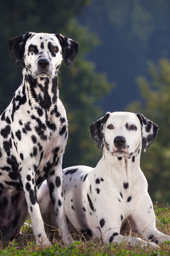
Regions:
M 159 130 L 159 127 L 157 124 L 155 124 L 152 121 L 150 121 L 149 119 L 147 119 L 141 113 L 138 113 L 136 115 L 139 118 L 139 121 L 141 124 L 142 148 L 143 148 L 143 151 L 146 152 L 146 150 L 149 148 L 149 146 L 156 139 L 156 135 Z

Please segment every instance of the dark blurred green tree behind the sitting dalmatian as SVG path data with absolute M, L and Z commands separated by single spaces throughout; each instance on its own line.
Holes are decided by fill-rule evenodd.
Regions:
M 95 65 L 85 55 L 99 43 L 97 36 L 75 19 L 88 0 L 6 0 L 0 3 L 1 113 L 10 103 L 14 91 L 22 81 L 22 67 L 15 67 L 8 53 L 7 40 L 27 31 L 61 33 L 79 42 L 79 54 L 70 69 L 60 68 L 60 98 L 69 120 L 69 139 L 63 158 L 63 167 L 75 164 L 95 165 L 100 153 L 92 141 L 89 125 L 103 114 L 95 106 L 98 99 L 112 85 L 104 74 L 95 73 Z

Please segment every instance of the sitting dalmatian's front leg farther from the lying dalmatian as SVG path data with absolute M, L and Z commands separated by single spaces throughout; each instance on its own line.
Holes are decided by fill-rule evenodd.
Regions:
M 49 246 L 50 242 L 44 230 L 44 222 L 41 218 L 37 201 L 37 186 L 35 184 L 35 171 L 33 170 L 33 167 L 32 169 L 29 168 L 29 170 L 22 169 L 21 179 L 31 217 L 32 230 L 36 237 L 36 244 Z

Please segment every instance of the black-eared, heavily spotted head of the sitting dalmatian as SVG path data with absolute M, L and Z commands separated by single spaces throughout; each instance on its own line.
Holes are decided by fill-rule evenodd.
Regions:
M 19 66 L 22 59 L 33 77 L 53 78 L 62 59 L 68 68 L 78 53 L 79 44 L 61 34 L 26 33 L 11 38 L 9 51 Z

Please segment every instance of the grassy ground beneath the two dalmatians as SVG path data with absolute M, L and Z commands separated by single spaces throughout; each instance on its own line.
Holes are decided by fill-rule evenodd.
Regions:
M 161 207 L 155 205 L 155 214 L 157 220 L 157 228 L 162 233 L 170 235 L 170 207 Z M 30 223 L 30 219 L 27 219 L 27 223 Z M 22 233 L 32 233 L 32 229 L 29 226 L 22 227 Z M 132 233 L 133 236 L 137 236 Z M 170 242 L 163 243 L 160 245 L 160 249 L 154 251 L 148 247 L 131 246 L 130 244 L 109 244 L 104 245 L 101 239 L 91 239 L 91 241 L 85 241 L 83 237 L 73 234 L 74 239 L 79 241 L 75 242 L 71 246 L 64 246 L 57 237 L 57 233 L 54 233 L 52 246 L 37 247 L 35 244 L 35 238 L 33 236 L 27 239 L 15 240 L 10 243 L 1 243 L 0 255 L 62 255 L 62 256 L 74 256 L 74 255 L 85 255 L 85 256 L 156 256 L 156 255 L 170 255 Z

